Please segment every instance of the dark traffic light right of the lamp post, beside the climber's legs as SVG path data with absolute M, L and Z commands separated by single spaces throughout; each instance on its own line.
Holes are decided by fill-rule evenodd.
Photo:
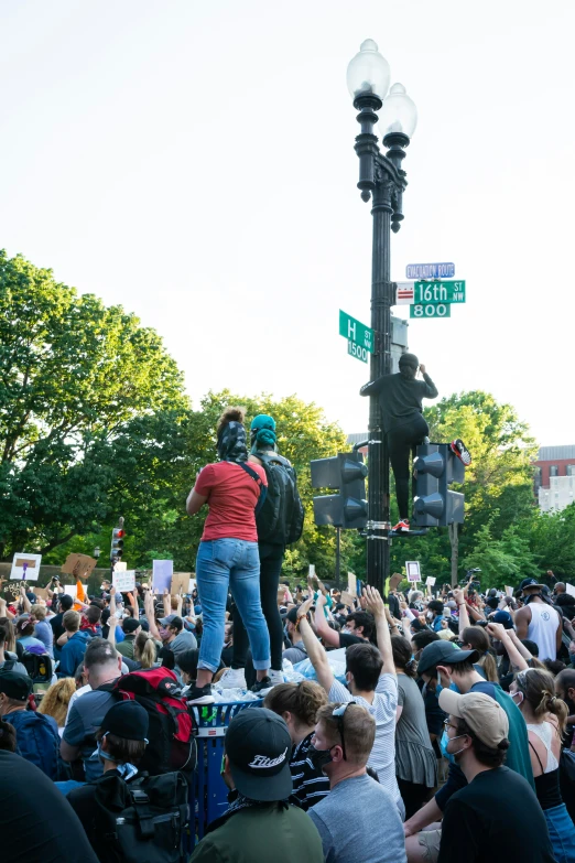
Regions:
M 445 527 L 464 520 L 464 495 L 452 492 L 452 483 L 463 483 L 465 466 L 448 443 L 417 446 L 413 462 L 415 494 L 412 524 L 416 527 Z

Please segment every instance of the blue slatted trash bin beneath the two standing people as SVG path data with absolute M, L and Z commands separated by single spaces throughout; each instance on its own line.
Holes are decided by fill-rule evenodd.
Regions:
M 262 704 L 263 699 L 258 699 L 194 706 L 197 722 L 197 767 L 189 801 L 192 848 L 204 837 L 206 827 L 223 816 L 228 807 L 228 788 L 221 778 L 226 730 L 240 710 L 259 708 Z

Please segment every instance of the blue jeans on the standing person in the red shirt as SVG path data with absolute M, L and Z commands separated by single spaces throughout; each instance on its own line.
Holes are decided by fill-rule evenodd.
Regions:
M 248 630 L 253 667 L 258 671 L 268 669 L 270 635 L 261 611 L 258 543 L 243 539 L 200 542 L 196 582 L 204 624 L 197 667 L 214 673 L 219 668 L 229 586 Z

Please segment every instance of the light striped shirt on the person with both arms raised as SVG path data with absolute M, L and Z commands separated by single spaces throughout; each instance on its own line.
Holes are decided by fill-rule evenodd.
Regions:
M 337 680 L 334 680 L 328 698 L 332 703 L 355 701 L 356 704 L 361 704 L 371 713 L 376 720 L 376 740 L 368 765 L 377 770 L 380 785 L 391 795 L 393 800 L 401 800 L 395 778 L 395 710 L 398 706 L 398 678 L 395 675 L 381 675 L 371 704 L 361 695 L 352 695 Z

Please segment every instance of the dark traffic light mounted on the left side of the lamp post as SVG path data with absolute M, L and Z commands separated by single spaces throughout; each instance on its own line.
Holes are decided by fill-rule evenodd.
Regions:
M 311 462 L 312 488 L 337 488 L 337 495 L 314 497 L 316 525 L 340 528 L 365 528 L 367 466 L 361 453 L 338 453 L 330 459 Z

